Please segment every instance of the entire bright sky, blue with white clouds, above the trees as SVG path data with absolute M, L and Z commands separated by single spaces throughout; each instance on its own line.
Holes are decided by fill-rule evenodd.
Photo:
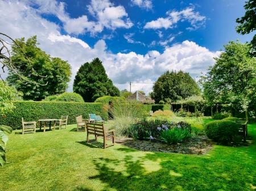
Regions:
M 81 64 L 100 57 L 114 83 L 145 83 L 134 83 L 133 91 L 150 92 L 164 71 L 184 70 L 198 79 L 228 41 L 250 41 L 253 34 L 242 36 L 235 29 L 244 3 L 0 0 L 0 31 L 14 38 L 37 35 L 40 48 L 67 60 L 72 66 L 68 91 Z

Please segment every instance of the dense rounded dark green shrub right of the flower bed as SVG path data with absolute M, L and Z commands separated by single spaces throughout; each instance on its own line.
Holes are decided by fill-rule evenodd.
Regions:
M 225 145 L 238 134 L 238 125 L 228 120 L 211 121 L 205 125 L 205 133 L 208 138 Z

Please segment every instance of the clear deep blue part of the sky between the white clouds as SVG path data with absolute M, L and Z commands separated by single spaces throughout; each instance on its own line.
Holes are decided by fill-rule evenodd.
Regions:
M 94 19 L 90 15 L 88 6 L 90 1 L 63 1 L 66 4 L 66 10 L 71 18 L 78 18 L 82 15 L 88 15 L 89 19 Z M 164 47 L 162 45 L 150 46 L 152 41 L 163 41 L 168 39 L 169 36 L 175 37 L 175 39 L 168 45 L 174 43 L 180 43 L 184 40 L 194 41 L 200 46 L 205 46 L 209 50 L 220 50 L 222 46 L 228 43 L 229 40 L 250 41 L 251 35 L 242 36 L 236 32 L 236 19 L 241 17 L 245 10 L 243 0 L 208 0 L 208 1 L 174 1 L 166 0 L 159 1 L 152 0 L 152 8 L 145 9 L 139 6 L 133 5 L 131 1 L 111 1 L 115 6 L 123 6 L 131 22 L 134 26 L 131 28 L 117 28 L 105 29 L 98 33 L 96 36 L 91 36 L 89 32 L 80 34 L 77 37 L 86 41 L 90 46 L 94 45 L 98 40 L 104 38 L 104 36 L 110 36 L 111 39 L 106 39 L 108 43 L 108 49 L 113 53 L 134 51 L 140 54 L 146 54 L 148 50 L 158 50 L 162 52 Z M 186 29 L 190 27 L 189 22 L 179 22 L 175 28 L 159 28 L 159 29 L 143 29 L 143 26 L 151 20 L 158 18 L 166 18 L 166 12 L 170 10 L 181 11 L 187 7 L 194 7 L 195 12 L 199 12 L 200 15 L 205 16 L 205 24 L 193 31 Z M 59 19 L 52 15 L 45 15 L 46 18 L 54 22 L 60 23 Z M 95 20 L 95 19 L 94 19 Z M 159 37 L 158 33 L 162 33 L 163 37 Z M 182 33 L 181 33 L 182 32 Z M 63 31 L 65 33 L 65 31 Z M 134 34 L 131 39 L 134 41 L 141 41 L 143 44 L 128 43 L 125 39 L 125 35 Z M 149 47 L 148 47 L 149 46 Z

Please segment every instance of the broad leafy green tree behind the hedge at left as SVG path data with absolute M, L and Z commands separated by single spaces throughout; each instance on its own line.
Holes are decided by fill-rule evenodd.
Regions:
M 11 60 L 19 75 L 9 69 L 7 82 L 23 92 L 23 99 L 42 100 L 46 96 L 65 92 L 71 77 L 71 66 L 68 62 L 60 58 L 51 58 L 38 48 L 36 36 L 28 38 L 27 41 L 22 38 L 15 42 L 16 44 L 12 45 Z M 20 75 L 28 79 L 26 86 Z

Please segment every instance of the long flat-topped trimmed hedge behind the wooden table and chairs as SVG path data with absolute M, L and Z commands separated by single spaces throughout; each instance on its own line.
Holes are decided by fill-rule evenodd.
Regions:
M 6 114 L 6 118 L 0 118 L 1 125 L 10 126 L 13 129 L 19 129 L 22 126 L 22 117 L 25 121 L 37 121 L 68 115 L 68 124 L 76 124 L 76 117 L 80 115 L 88 118 L 89 113 L 96 113 L 104 120 L 108 119 L 108 108 L 102 103 L 14 101 L 14 105 L 16 109 L 13 113 Z

